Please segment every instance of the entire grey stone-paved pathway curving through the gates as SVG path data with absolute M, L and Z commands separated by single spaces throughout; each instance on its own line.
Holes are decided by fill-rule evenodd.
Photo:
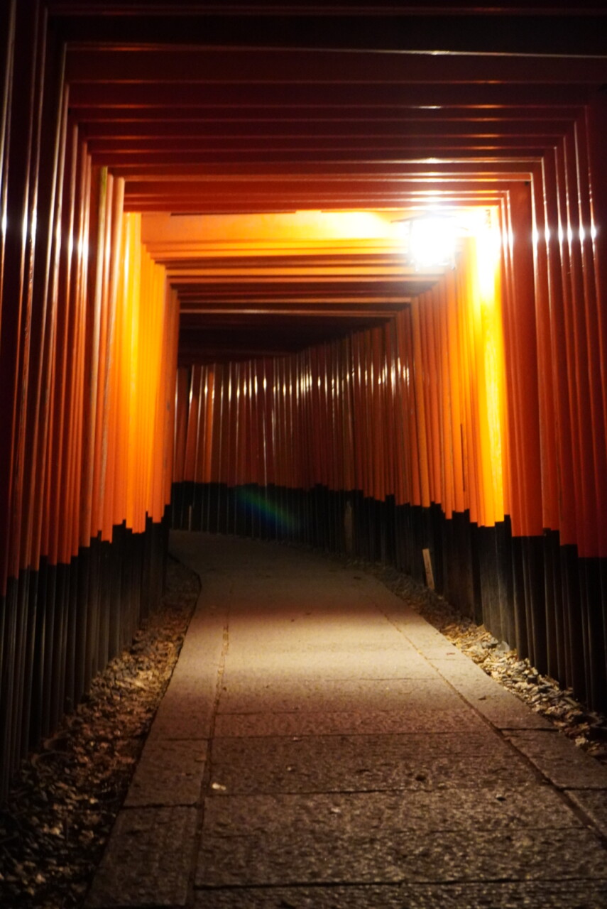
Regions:
M 172 550 L 203 589 L 87 909 L 607 906 L 607 768 L 383 584 Z

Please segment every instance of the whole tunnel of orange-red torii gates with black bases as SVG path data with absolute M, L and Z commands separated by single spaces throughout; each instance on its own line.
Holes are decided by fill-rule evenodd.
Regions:
M 607 13 L 402 7 L 0 5 L 0 788 L 171 526 L 431 568 L 607 707 Z

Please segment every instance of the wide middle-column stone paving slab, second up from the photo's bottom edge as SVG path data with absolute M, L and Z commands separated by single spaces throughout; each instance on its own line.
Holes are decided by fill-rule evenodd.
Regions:
M 195 884 L 401 883 L 607 879 L 602 845 L 587 830 L 438 831 L 203 838 Z

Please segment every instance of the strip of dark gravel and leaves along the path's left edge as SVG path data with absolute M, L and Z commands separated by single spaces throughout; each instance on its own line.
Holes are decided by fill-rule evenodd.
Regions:
M 31 754 L 0 804 L 0 906 L 83 904 L 198 598 L 169 559 L 163 608 L 97 675 L 65 724 Z

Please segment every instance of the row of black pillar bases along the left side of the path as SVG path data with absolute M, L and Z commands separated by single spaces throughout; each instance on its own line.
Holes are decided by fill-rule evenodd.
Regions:
M 114 527 L 69 564 L 24 570 L 0 600 L 0 796 L 27 752 L 130 644 L 164 589 L 169 511 L 144 534 Z

